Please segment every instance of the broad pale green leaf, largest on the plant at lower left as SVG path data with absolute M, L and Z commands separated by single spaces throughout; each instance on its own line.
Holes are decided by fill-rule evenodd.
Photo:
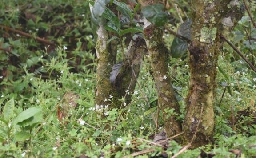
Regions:
M 35 126 L 35 124 L 41 122 L 43 119 L 42 110 L 37 107 L 30 107 L 25 111 L 22 111 L 16 119 L 13 120 L 12 125 L 19 126 Z

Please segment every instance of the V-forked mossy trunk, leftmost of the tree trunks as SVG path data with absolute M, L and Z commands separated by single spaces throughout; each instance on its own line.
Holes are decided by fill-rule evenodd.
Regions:
M 90 6 L 92 9 L 92 6 Z M 112 10 L 113 6 L 112 6 Z M 92 10 L 91 10 L 92 12 Z M 131 41 L 124 61 L 116 63 L 116 50 L 118 40 L 108 43 L 114 36 L 104 28 L 105 20 L 101 20 L 96 27 L 96 107 L 109 105 L 109 108 L 120 108 L 121 98 L 128 104 L 131 95 L 127 95 L 126 90 L 133 93 L 136 86 L 136 78 L 140 72 L 140 64 L 147 51 L 144 39 L 137 38 Z M 109 101 L 111 99 L 112 101 Z

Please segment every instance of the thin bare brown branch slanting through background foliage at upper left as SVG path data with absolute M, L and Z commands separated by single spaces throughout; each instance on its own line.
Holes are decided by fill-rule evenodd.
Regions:
M 0 28 L 4 28 L 7 32 L 8 32 L 8 31 L 11 31 L 11 32 L 17 33 L 17 34 L 19 34 L 19 35 L 21 35 L 21 36 L 25 36 L 25 37 L 28 37 L 28 38 L 33 38 L 33 39 L 35 39 L 35 40 L 37 40 L 37 41 L 39 41 L 39 42 L 42 42 L 42 43 L 46 43 L 46 44 L 50 44 L 50 45 L 55 45 L 55 43 L 52 42 L 52 41 L 48 41 L 48 40 L 42 39 L 42 38 L 40 38 L 40 37 L 34 37 L 34 36 L 32 36 L 32 35 L 30 35 L 30 34 L 28 34 L 28 33 L 26 33 L 26 32 L 13 29 L 13 28 L 10 28 L 10 27 L 8 27 L 8 26 L 0 25 Z

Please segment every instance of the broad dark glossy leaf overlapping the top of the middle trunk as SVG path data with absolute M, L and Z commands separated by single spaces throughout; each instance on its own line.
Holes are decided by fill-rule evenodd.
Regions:
M 142 8 L 145 18 L 156 26 L 164 26 L 167 22 L 167 13 L 164 11 L 163 4 L 148 5 Z

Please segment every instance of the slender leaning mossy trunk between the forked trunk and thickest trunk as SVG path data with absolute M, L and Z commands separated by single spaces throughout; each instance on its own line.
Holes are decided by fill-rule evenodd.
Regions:
M 180 107 L 168 74 L 168 50 L 164 47 L 163 30 L 144 19 L 144 38 L 151 58 L 151 69 L 158 93 L 158 105 L 163 113 L 164 128 L 168 136 L 179 134 L 182 128 L 176 116 L 180 115 Z M 170 109 L 174 109 L 176 115 L 170 116 Z

